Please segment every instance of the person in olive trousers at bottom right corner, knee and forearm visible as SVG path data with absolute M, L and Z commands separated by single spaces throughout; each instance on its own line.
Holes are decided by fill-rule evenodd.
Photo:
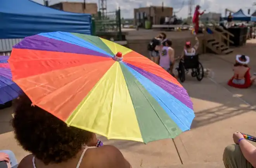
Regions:
M 244 139 L 240 132 L 233 134 L 235 144 L 225 147 L 223 162 L 226 168 L 256 167 L 256 147 Z

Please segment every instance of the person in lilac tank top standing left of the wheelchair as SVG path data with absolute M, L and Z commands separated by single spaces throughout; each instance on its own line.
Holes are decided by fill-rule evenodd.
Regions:
M 161 49 L 160 53 L 160 60 L 159 60 L 159 65 L 169 72 L 171 75 L 173 75 L 173 65 L 175 63 L 174 60 L 174 49 L 171 48 L 172 42 L 170 40 L 166 40 L 163 43 L 163 48 Z

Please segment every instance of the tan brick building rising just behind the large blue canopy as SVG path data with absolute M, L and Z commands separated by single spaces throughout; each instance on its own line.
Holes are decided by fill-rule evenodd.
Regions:
M 64 10 L 66 12 L 85 13 L 85 14 L 97 14 L 98 6 L 97 3 L 86 3 L 85 9 L 82 2 L 60 2 L 49 7 Z

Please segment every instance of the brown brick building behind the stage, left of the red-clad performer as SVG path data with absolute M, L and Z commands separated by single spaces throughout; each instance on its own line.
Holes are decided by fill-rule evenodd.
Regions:
M 133 23 L 137 25 L 138 22 L 142 24 L 145 19 L 148 19 L 152 24 L 160 24 L 161 20 L 164 20 L 166 16 L 171 17 L 173 15 L 172 7 L 143 7 L 134 9 Z

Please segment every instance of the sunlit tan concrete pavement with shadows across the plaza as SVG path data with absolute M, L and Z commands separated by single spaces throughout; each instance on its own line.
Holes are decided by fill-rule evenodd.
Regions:
M 176 137 L 175 143 L 171 139 L 164 139 L 145 145 L 139 142 L 107 141 L 104 137 L 100 138 L 104 140 L 104 144 L 118 147 L 133 168 L 219 168 L 223 166 L 223 149 L 233 143 L 233 132 L 239 130 L 256 135 L 254 122 L 256 86 L 249 89 L 235 89 L 226 84 L 232 76 L 232 63 L 236 53 L 251 56 L 251 66 L 256 65 L 256 57 L 253 55 L 256 48 L 253 49 L 253 45 L 247 45 L 244 47 L 246 49 L 235 49 L 235 53 L 230 55 L 201 56 L 203 66 L 212 69 L 215 75 L 213 79 L 204 78 L 201 82 L 187 76 L 183 86 L 194 103 L 196 117 L 191 130 Z M 256 71 L 256 69 L 253 70 Z M 11 114 L 11 108 L 0 111 L 0 149 L 11 149 L 18 160 L 21 160 L 28 153 L 17 145 L 13 133 L 10 132 L 12 130 L 9 125 Z

